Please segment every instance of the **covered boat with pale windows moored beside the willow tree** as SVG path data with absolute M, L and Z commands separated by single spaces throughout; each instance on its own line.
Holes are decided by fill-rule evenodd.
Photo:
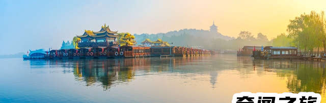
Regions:
M 269 57 L 296 57 L 297 48 L 296 47 L 264 47 L 264 52 L 268 53 Z

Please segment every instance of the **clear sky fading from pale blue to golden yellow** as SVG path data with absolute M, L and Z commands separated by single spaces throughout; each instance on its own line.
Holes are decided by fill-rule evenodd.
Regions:
M 326 1 L 303 0 L 165 0 L 165 1 L 7 1 L 0 0 L 0 55 L 29 49 L 59 49 L 85 30 L 106 23 L 119 33 L 166 33 L 208 30 L 212 21 L 223 35 L 240 31 L 269 39 L 286 33 L 290 19 L 326 11 Z

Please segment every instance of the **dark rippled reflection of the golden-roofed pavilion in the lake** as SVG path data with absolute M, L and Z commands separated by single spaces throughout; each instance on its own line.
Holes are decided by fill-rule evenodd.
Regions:
M 75 61 L 73 65 L 73 74 L 78 81 L 85 81 L 86 86 L 97 85 L 99 83 L 104 90 L 110 89 L 116 83 L 127 83 L 134 79 L 134 70 L 139 67 L 145 67 L 143 61 L 134 59 L 88 59 L 84 61 Z M 145 63 L 145 64 L 144 64 Z M 135 65 L 135 67 L 132 67 Z

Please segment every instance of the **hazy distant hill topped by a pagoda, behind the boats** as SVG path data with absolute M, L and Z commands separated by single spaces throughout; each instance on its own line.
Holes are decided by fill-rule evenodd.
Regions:
M 134 34 L 138 45 L 145 39 L 156 41 L 161 39 L 172 46 L 192 47 L 199 46 L 205 49 L 241 49 L 244 45 L 270 45 L 266 35 L 258 33 L 255 38 L 249 31 L 240 31 L 237 38 L 222 35 L 218 27 L 213 23 L 209 30 L 182 29 L 167 33 Z

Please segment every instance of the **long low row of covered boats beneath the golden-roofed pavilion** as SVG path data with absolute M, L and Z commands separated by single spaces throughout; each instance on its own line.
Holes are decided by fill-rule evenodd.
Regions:
M 42 58 L 33 54 L 23 59 L 91 59 L 91 58 L 138 58 L 138 57 L 197 57 L 210 56 L 210 50 L 180 46 L 112 46 L 45 51 Z

